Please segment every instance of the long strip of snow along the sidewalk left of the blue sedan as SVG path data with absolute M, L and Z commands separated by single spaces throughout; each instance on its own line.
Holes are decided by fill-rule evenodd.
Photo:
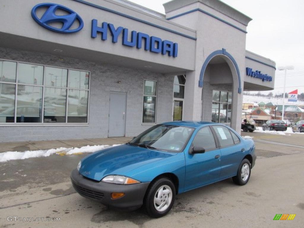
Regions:
M 56 153 L 65 153 L 68 155 L 77 154 L 77 153 L 93 153 L 98 150 L 102 150 L 106 147 L 115 147 L 120 144 L 115 144 L 112 146 L 109 145 L 98 145 L 98 146 L 85 146 L 81 148 L 57 148 L 57 149 L 49 149 L 49 150 L 27 150 L 24 152 L 17 152 L 17 151 L 8 151 L 0 153 L 0 162 L 10 161 L 10 160 L 19 160 L 19 159 L 26 159 L 31 157 L 49 157 L 52 154 Z

